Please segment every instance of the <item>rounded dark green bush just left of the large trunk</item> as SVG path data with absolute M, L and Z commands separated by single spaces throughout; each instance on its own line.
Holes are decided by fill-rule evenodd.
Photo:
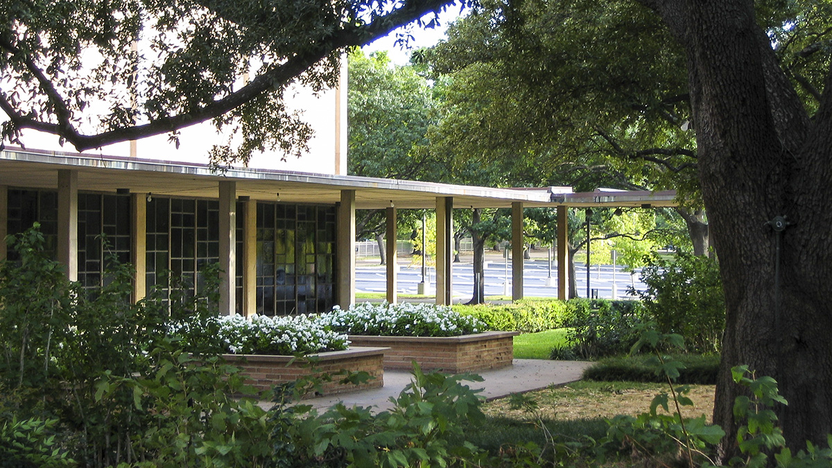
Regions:
M 645 256 L 639 296 L 663 333 L 685 336 L 691 351 L 719 352 L 725 328 L 725 296 L 716 259 L 678 253 Z

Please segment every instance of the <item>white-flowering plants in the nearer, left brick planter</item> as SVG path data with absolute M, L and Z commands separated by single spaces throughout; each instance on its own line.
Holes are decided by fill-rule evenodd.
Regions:
M 216 332 L 222 349 L 232 354 L 295 355 L 347 348 L 347 336 L 329 331 L 314 316 L 215 316 L 208 319 L 208 330 Z M 193 324 L 181 322 L 173 327 L 183 341 L 199 334 Z

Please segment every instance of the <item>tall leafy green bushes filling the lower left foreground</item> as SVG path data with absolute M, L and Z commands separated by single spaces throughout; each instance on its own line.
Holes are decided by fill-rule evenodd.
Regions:
M 171 278 L 131 304 L 130 266 L 108 259 L 111 281 L 83 291 L 43 253 L 37 226 L 10 245 L 19 261 L 0 264 L 0 459 L 254 466 L 270 456 L 265 411 L 228 396 L 242 377 L 169 336 L 171 321 L 216 315 L 216 268 L 196 295 Z

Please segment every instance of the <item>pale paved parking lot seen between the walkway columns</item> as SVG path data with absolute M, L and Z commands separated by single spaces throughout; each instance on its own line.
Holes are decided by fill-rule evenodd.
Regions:
M 552 262 L 554 263 L 554 262 Z M 473 267 L 470 261 L 454 263 L 452 267 L 453 282 L 452 291 L 454 301 L 468 300 L 473 294 Z M 487 261 L 485 268 L 485 296 L 511 296 L 511 260 L 508 263 L 508 287 L 505 286 L 507 268 L 505 261 Z M 357 292 L 384 292 L 386 291 L 385 266 L 374 264 L 373 261 L 360 261 L 356 266 Z M 428 268 L 428 275 L 425 282 L 428 290 L 433 291 L 435 271 Z M 418 283 L 422 281 L 421 266 L 410 265 L 409 259 L 399 260 L 399 293 L 417 294 Z M 585 266 L 576 265 L 577 293 L 578 296 L 587 296 L 587 269 Z M 547 286 L 547 283 L 551 286 Z M 592 266 L 590 270 L 590 288 L 598 290 L 598 296 L 606 299 L 612 298 L 612 289 L 615 285 L 616 297 L 626 298 L 628 286 L 643 290 L 645 286 L 639 280 L 639 276 L 630 275 L 622 271 L 619 266 L 613 273 L 612 265 Z M 506 292 L 508 291 L 508 294 Z M 552 265 L 551 279 L 547 266 L 547 259 L 537 258 L 527 260 L 523 266 L 523 296 L 528 297 L 557 297 L 557 268 Z

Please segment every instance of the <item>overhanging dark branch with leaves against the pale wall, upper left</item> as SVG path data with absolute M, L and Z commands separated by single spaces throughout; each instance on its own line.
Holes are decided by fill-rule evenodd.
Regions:
M 242 137 L 239 147 L 216 147 L 217 160 L 247 161 L 275 147 L 300 154 L 310 127 L 284 106 L 287 87 L 333 85 L 344 47 L 409 22 L 431 24 L 435 17 L 420 18 L 445 3 L 2 2 L 2 140 L 19 143 L 34 129 L 84 151 L 163 133 L 175 139 L 213 119 Z

